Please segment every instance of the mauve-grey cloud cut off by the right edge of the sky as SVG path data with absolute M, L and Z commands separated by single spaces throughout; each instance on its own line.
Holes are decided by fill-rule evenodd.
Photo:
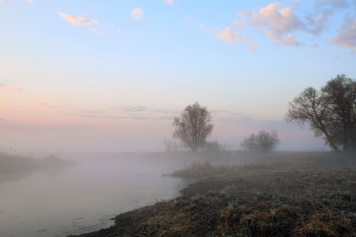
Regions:
M 339 33 L 333 38 L 332 43 L 341 47 L 356 47 L 356 17 L 345 20 L 337 31 Z

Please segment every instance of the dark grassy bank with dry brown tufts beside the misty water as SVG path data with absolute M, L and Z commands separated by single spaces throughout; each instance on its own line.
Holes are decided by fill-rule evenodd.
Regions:
M 278 157 L 218 169 L 200 163 L 210 176 L 182 196 L 79 236 L 356 236 L 352 158 L 333 157 L 326 165 L 323 157 Z

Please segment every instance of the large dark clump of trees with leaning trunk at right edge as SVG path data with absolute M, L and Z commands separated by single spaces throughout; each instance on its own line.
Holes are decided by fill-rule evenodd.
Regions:
M 356 81 L 339 74 L 320 91 L 306 88 L 289 102 L 284 119 L 300 126 L 308 123 L 332 150 L 356 151 Z

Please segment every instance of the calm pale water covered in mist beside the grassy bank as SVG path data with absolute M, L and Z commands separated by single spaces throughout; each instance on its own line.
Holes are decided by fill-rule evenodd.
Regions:
M 162 177 L 188 160 L 118 153 L 61 158 L 77 165 L 0 182 L 0 236 L 62 237 L 99 230 L 111 226 L 109 219 L 117 214 L 177 197 L 191 182 Z

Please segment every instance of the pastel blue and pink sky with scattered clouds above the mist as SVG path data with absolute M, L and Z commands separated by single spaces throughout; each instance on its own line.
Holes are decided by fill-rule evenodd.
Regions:
M 210 141 L 277 129 L 278 150 L 328 150 L 283 117 L 355 65 L 356 0 L 0 0 L 0 147 L 163 151 L 198 101 Z

